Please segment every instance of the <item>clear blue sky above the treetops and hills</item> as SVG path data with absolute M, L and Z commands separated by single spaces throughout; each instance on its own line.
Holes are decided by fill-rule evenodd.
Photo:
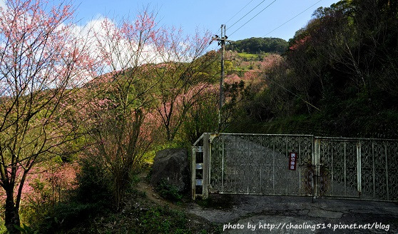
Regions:
M 295 35 L 295 31 L 307 24 L 318 7 L 327 7 L 337 2 L 336 0 L 74 1 L 77 6 L 76 17 L 83 24 L 100 16 L 113 18 L 133 16 L 139 9 L 148 6 L 157 12 L 160 26 L 181 27 L 187 34 L 194 34 L 196 29 L 220 34 L 221 24 L 226 24 L 226 35 L 233 41 L 250 37 L 277 37 L 289 40 Z M 295 18 L 292 19 L 293 17 Z M 282 24 L 284 25 L 281 26 Z

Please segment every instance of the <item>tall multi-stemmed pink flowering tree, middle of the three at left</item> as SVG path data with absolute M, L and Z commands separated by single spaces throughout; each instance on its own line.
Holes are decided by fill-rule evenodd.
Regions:
M 93 98 L 86 96 L 91 101 L 81 110 L 82 120 L 94 127 L 90 138 L 95 145 L 86 153 L 101 161 L 111 175 L 116 210 L 123 206 L 131 173 L 151 142 L 145 117 L 155 79 L 143 64 L 155 59 L 154 19 L 146 10 L 132 22 L 103 19 L 95 34 L 105 74 L 93 83 Z

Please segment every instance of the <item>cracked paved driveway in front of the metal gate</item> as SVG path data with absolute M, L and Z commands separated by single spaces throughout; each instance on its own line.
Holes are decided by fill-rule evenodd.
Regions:
M 210 195 L 188 212 L 225 233 L 398 233 L 398 204 L 293 196 Z

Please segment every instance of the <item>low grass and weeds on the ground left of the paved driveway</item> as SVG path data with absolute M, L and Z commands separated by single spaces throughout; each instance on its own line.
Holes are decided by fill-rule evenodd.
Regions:
M 177 207 L 153 203 L 146 193 L 131 190 L 120 212 L 108 210 L 89 222 L 58 233 L 221 233 L 219 224 L 189 214 L 180 205 Z

